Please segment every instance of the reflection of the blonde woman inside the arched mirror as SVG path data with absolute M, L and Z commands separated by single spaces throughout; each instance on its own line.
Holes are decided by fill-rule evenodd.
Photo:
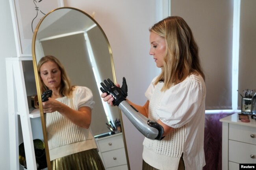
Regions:
M 41 91 L 52 90 L 43 102 L 52 170 L 104 170 L 90 129 L 91 90 L 71 86 L 56 57 L 41 58 L 37 68 Z

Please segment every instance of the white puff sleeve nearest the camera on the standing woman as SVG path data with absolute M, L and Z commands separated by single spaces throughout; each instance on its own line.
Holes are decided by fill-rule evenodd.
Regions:
M 203 91 L 202 82 L 195 79 L 184 80 L 165 91 L 156 114 L 168 126 L 182 127 L 197 114 L 203 103 Z

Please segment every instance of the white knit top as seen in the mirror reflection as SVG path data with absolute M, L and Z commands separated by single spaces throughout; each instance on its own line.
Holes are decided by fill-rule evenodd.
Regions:
M 76 86 L 73 97 L 61 97 L 57 101 L 74 110 L 82 106 L 93 109 L 93 94 L 89 88 Z M 59 112 L 46 113 L 46 132 L 50 160 L 97 148 L 91 129 L 81 128 Z

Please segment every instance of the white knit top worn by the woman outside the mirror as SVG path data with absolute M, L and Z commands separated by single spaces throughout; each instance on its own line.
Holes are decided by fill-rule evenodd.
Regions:
M 156 79 L 156 78 L 155 78 Z M 149 119 L 175 130 L 161 141 L 145 138 L 143 160 L 159 170 L 177 170 L 183 155 L 186 170 L 202 170 L 204 160 L 204 113 L 206 88 L 199 75 L 161 92 L 163 82 L 154 80 L 145 95 L 149 102 Z

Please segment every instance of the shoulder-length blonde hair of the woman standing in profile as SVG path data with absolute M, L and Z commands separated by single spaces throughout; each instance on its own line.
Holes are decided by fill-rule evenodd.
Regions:
M 161 74 L 154 84 L 164 81 L 161 91 L 165 91 L 186 79 L 191 73 L 205 79 L 200 65 L 198 46 L 185 20 L 179 16 L 169 16 L 154 24 L 149 31 L 165 38 L 166 51 Z

